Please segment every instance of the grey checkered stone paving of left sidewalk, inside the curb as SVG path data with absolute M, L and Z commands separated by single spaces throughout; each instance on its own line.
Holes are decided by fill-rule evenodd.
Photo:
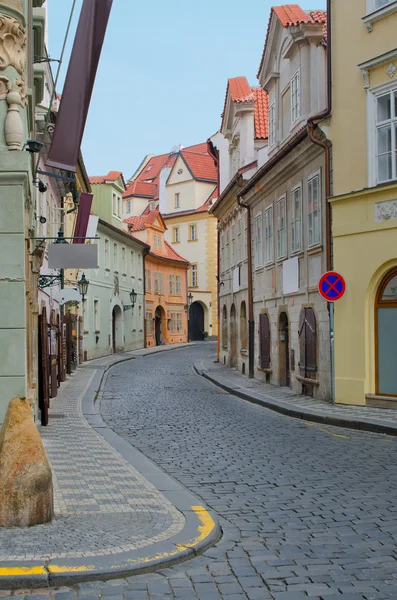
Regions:
M 168 539 L 184 526 L 183 515 L 84 419 L 81 399 L 93 366 L 62 386 L 40 431 L 56 518 L 30 529 L 0 529 L 0 560 L 114 554 Z

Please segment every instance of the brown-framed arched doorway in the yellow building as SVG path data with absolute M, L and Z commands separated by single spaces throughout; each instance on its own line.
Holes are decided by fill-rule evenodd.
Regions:
M 397 396 L 397 269 L 379 286 L 375 323 L 376 393 Z

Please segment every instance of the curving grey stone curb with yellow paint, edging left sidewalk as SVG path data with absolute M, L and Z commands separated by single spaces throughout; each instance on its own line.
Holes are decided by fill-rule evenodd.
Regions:
M 157 352 L 164 352 L 164 350 Z M 156 354 L 156 351 L 139 356 L 149 354 Z M 186 523 L 183 530 L 163 542 L 119 554 L 23 563 L 0 562 L 0 590 L 61 587 L 86 581 L 119 579 L 150 573 L 194 558 L 221 539 L 222 530 L 215 513 L 204 506 L 201 499 L 110 429 L 96 409 L 96 399 L 108 371 L 121 362 L 135 358 L 130 356 L 115 359 L 113 363 L 105 365 L 104 369 L 100 368 L 102 365 L 98 365 L 98 371 L 82 400 L 82 412 L 90 427 L 184 515 Z

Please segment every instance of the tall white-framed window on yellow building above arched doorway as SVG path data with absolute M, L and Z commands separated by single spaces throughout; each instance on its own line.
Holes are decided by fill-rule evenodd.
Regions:
M 378 183 L 397 179 L 397 87 L 376 99 Z

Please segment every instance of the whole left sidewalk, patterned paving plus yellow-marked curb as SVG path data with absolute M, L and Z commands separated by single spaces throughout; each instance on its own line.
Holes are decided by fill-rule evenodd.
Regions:
M 187 345 L 187 344 L 186 344 Z M 202 502 L 109 429 L 95 399 L 114 364 L 184 346 L 81 365 L 51 400 L 40 433 L 51 463 L 55 519 L 0 529 L 0 589 L 60 586 L 169 566 L 218 541 Z

